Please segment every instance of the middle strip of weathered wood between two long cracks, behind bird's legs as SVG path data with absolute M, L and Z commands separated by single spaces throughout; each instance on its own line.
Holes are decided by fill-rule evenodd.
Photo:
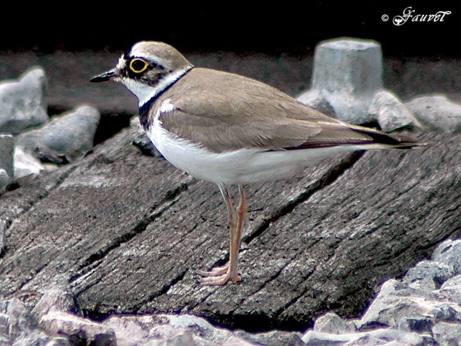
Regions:
M 325 184 L 325 180 L 332 179 L 331 175 L 339 174 L 340 167 L 350 164 L 348 157 L 325 160 L 316 169 L 307 169 L 302 176 L 288 181 L 251 187 L 249 223 L 244 237 L 252 239 L 270 220 L 286 213 L 292 204 L 293 208 L 294 201 L 307 198 Z M 170 289 L 179 289 L 184 298 L 189 296 L 192 300 L 181 306 L 174 304 L 166 310 L 188 310 L 190 304 L 200 304 L 204 296 L 219 288 L 200 286 L 195 271 L 227 259 L 226 224 L 226 211 L 217 187 L 197 183 L 156 217 L 142 236 L 108 254 L 98 271 L 75 280 L 73 284 L 80 292 L 79 300 L 96 315 L 112 311 L 146 311 L 147 306 Z M 244 277 L 250 274 L 253 269 L 247 268 Z M 178 285 L 174 285 L 176 282 Z M 251 292 L 261 284 L 255 281 L 227 285 L 230 291 L 226 294 L 232 294 L 235 289 Z

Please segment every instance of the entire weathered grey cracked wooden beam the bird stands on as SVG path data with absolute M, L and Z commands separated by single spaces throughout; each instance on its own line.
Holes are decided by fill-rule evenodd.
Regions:
M 247 330 L 302 330 L 330 309 L 357 315 L 383 280 L 459 235 L 461 135 L 422 137 L 429 146 L 338 156 L 251 186 L 243 282 L 203 287 L 195 270 L 228 253 L 218 189 L 143 155 L 125 130 L 9 214 L 0 296 L 32 303 L 65 281 L 93 317 L 189 312 Z

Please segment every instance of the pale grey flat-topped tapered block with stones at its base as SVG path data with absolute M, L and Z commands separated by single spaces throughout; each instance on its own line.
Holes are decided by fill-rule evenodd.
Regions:
M 389 95 L 383 89 L 380 44 L 341 38 L 316 47 L 312 89 L 301 94 L 298 101 L 349 123 L 376 121 L 385 131 L 418 126 L 398 98 L 383 97 Z

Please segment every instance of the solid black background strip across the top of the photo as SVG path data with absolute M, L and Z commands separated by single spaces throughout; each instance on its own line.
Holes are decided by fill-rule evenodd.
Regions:
M 322 40 L 369 38 L 386 56 L 461 55 L 457 2 L 127 2 L 59 3 L 3 11 L 2 51 L 123 51 L 139 40 L 167 42 L 182 52 L 312 54 Z M 13 4 L 14 6 L 15 4 Z M 415 14 L 451 11 L 443 22 L 396 27 L 392 18 L 411 6 Z M 389 20 L 383 22 L 382 15 Z

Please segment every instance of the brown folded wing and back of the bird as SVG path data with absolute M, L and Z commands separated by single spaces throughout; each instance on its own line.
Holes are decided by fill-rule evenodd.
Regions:
M 173 109 L 160 114 L 163 127 L 215 152 L 399 142 L 330 118 L 264 83 L 215 70 L 191 70 L 157 104 L 165 99 Z

